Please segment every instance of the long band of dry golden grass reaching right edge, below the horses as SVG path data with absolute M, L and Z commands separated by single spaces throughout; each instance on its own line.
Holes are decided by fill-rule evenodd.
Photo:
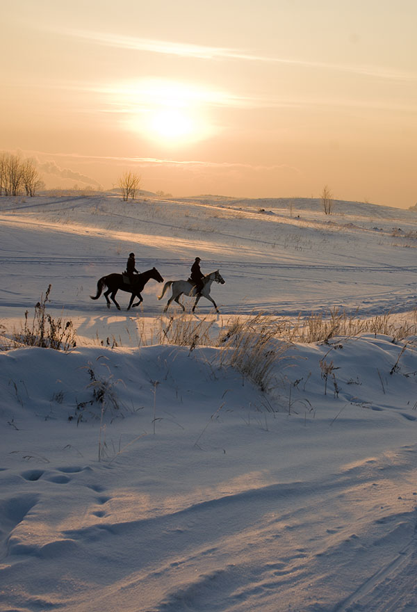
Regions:
M 393 314 L 383 314 L 369 319 L 350 316 L 334 308 L 329 316 L 311 314 L 296 321 L 278 319 L 267 314 L 234 319 L 220 330 L 213 328 L 215 319 L 194 319 L 189 314 L 161 317 L 159 328 L 146 336 L 141 335 L 141 344 L 174 344 L 220 348 L 220 367 L 234 367 L 245 378 L 266 391 L 272 385 L 276 366 L 286 351 L 295 342 L 303 344 L 327 343 L 334 337 L 356 337 L 364 333 L 386 335 L 400 341 L 417 335 L 417 310 L 411 320 L 400 322 Z

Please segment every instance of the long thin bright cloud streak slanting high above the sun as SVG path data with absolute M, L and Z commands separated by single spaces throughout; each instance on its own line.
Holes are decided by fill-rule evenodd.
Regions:
M 240 60 L 250 62 L 275 63 L 293 65 L 316 70 L 332 70 L 336 72 L 347 72 L 360 74 L 364 77 L 375 77 L 393 81 L 417 81 L 415 72 L 403 72 L 373 65 L 347 65 L 334 64 L 331 62 L 315 62 L 293 58 L 277 58 L 256 54 L 243 49 L 230 49 L 228 47 L 209 47 L 206 45 L 193 45 L 188 42 L 172 42 L 168 40 L 154 40 L 151 38 L 140 38 L 114 33 L 101 33 L 87 30 L 68 30 L 63 33 L 89 40 L 107 47 L 130 49 L 133 51 L 146 51 L 148 53 L 174 55 L 182 58 L 196 58 L 202 60 Z

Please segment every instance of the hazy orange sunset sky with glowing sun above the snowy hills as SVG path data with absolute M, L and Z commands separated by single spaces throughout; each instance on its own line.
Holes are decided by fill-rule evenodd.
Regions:
M 415 0 L 0 0 L 0 150 L 47 186 L 417 202 Z

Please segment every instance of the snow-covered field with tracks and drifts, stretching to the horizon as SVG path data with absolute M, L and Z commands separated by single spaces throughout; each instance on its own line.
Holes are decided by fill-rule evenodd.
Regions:
M 47 312 L 76 330 L 69 353 L 0 352 L 1 612 L 415 612 L 416 220 L 307 199 L 0 198 L 1 346 L 49 284 Z M 122 291 L 120 311 L 91 300 L 131 251 L 165 281 L 197 255 L 218 269 L 220 314 L 184 298 L 164 315 L 154 280 L 129 312 Z M 261 386 L 224 358 L 236 323 L 332 309 L 392 325 L 285 353 L 272 338 Z M 163 341 L 180 324 L 200 338 Z

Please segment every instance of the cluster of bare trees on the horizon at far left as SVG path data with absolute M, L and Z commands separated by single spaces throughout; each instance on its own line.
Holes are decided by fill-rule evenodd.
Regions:
M 0 195 L 33 196 L 43 186 L 33 159 L 21 159 L 13 153 L 0 153 Z

